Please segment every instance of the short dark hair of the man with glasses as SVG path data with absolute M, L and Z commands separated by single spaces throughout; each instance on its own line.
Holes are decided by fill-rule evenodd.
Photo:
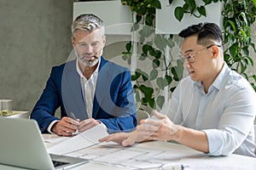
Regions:
M 179 37 L 197 36 L 197 43 L 201 45 L 209 45 L 209 43 L 218 42 L 218 45 L 223 46 L 222 32 L 219 26 L 215 23 L 200 23 L 189 26 L 178 33 Z

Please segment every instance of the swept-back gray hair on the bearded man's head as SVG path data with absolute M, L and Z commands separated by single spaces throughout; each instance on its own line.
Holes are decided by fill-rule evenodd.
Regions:
M 105 28 L 103 21 L 98 18 L 94 14 L 80 14 L 72 24 L 72 36 L 74 37 L 74 33 L 76 30 L 83 31 L 95 31 L 96 29 L 100 29 L 102 31 L 102 36 L 105 34 Z

